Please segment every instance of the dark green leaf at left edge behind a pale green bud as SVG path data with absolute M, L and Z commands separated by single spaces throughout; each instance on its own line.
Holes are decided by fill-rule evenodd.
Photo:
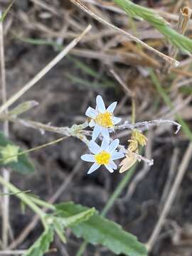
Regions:
M 20 174 L 31 174 L 34 172 L 34 166 L 31 160 L 28 158 L 27 154 L 21 154 L 20 156 L 16 156 L 16 154 L 13 154 L 12 158 L 4 159 L 2 150 L 10 148 L 16 149 L 17 146 L 15 146 L 9 139 L 7 139 L 3 132 L 0 132 L 0 147 L 0 158 L 2 159 L 2 161 L 0 161 L 0 166 L 11 167 L 11 169 L 19 172 Z M 18 153 L 21 152 L 23 152 L 23 150 L 18 149 Z

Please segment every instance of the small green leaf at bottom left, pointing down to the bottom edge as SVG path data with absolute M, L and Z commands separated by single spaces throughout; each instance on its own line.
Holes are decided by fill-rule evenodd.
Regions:
M 53 227 L 49 226 L 23 256 L 43 256 L 49 250 L 50 242 L 53 241 Z

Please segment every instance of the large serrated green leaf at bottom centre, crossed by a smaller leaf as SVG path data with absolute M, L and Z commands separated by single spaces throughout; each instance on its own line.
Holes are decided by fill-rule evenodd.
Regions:
M 60 203 L 55 206 L 60 210 L 60 217 L 69 217 L 87 210 L 87 207 L 74 203 Z M 95 213 L 83 223 L 72 228 L 73 233 L 84 238 L 92 245 L 104 245 L 112 252 L 124 253 L 129 256 L 146 256 L 146 248 L 137 238 L 124 231 L 120 225 Z

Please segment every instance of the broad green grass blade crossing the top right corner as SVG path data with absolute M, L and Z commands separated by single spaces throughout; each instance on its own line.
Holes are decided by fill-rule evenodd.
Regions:
M 126 11 L 129 16 L 144 19 L 151 23 L 152 26 L 169 39 L 177 48 L 180 48 L 184 52 L 192 53 L 191 39 L 176 32 L 156 11 L 134 4 L 129 0 L 114 0 L 114 3 Z

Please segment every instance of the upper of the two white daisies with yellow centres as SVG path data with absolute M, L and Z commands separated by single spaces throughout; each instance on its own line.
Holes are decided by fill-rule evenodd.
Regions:
M 121 122 L 121 118 L 114 117 L 113 115 L 117 102 L 113 102 L 109 107 L 107 107 L 106 110 L 102 97 L 98 95 L 96 98 L 96 103 L 96 109 L 88 107 L 87 111 L 85 112 L 86 116 L 91 118 L 89 123 L 90 127 L 94 127 L 92 139 L 95 140 L 100 133 L 103 137 L 110 139 L 109 129 L 113 129 L 115 124 Z

